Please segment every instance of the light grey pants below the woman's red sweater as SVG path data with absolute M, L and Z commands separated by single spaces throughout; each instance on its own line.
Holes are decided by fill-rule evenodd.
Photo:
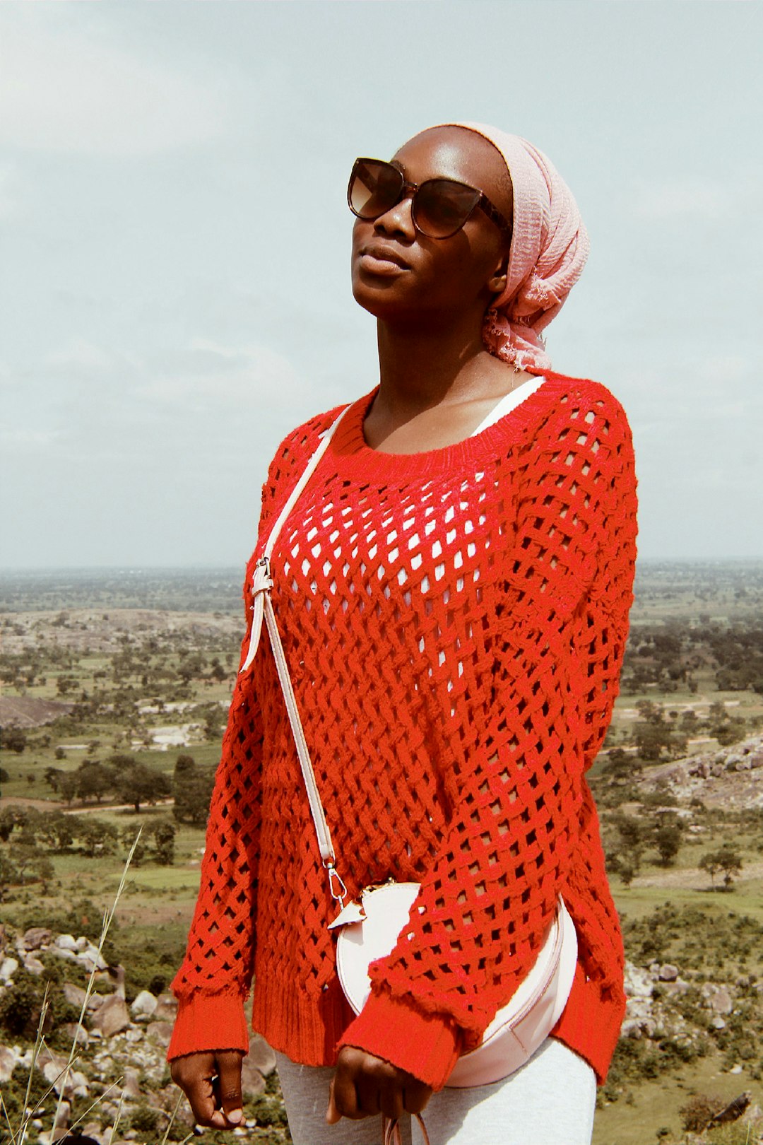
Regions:
M 276 1057 L 295 1145 L 381 1145 L 380 1118 L 326 1124 L 333 1069 Z M 435 1093 L 423 1119 L 431 1145 L 590 1145 L 595 1105 L 591 1067 L 547 1037 L 504 1081 Z M 422 1145 L 415 1121 L 402 1128 L 405 1145 Z

